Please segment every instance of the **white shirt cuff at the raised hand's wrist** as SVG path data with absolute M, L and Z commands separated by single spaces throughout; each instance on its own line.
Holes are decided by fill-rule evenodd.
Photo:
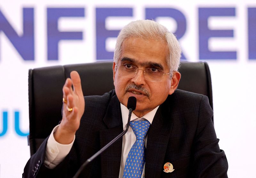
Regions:
M 68 155 L 69 151 L 71 150 L 76 138 L 76 136 L 74 136 L 73 141 L 69 144 L 58 143 L 53 136 L 53 133 L 57 130 L 58 127 L 59 125 L 53 128 L 46 145 L 44 164 L 50 169 L 53 169 L 54 167 L 59 165 L 61 161 L 63 161 L 63 159 Z

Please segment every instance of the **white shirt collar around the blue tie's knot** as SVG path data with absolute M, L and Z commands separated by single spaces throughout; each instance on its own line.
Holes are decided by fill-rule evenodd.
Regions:
M 123 104 L 121 104 L 121 112 L 122 112 L 122 119 L 123 119 L 123 129 L 125 129 L 125 126 L 128 122 L 128 114 L 129 114 L 129 110 L 126 106 L 124 106 Z M 153 109 L 152 111 L 148 112 L 147 114 L 145 114 L 144 116 L 142 116 L 143 118 L 147 119 L 150 124 L 152 124 L 153 119 L 155 117 L 156 111 L 159 108 L 159 106 L 157 106 L 155 109 Z M 142 118 L 141 117 L 141 118 Z M 134 119 L 137 119 L 138 116 L 136 116 L 133 112 L 132 112 L 132 116 L 131 116 L 131 121 Z M 139 118 L 140 119 L 140 118 Z

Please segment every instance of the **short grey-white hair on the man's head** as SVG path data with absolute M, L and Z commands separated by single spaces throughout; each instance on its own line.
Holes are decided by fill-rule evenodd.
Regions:
M 180 66 L 181 48 L 174 34 L 154 20 L 136 20 L 130 22 L 119 32 L 116 40 L 114 61 L 117 64 L 122 53 L 122 44 L 129 37 L 163 40 L 167 43 L 166 63 L 170 70 L 177 71 Z

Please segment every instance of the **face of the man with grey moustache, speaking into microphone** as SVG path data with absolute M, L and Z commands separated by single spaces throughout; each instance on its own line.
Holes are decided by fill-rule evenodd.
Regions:
M 156 68 L 164 71 L 164 73 L 170 72 L 166 64 L 166 44 L 162 41 L 128 38 L 122 45 L 122 54 L 118 60 L 118 66 L 129 64 L 139 69 Z M 178 86 L 178 84 L 172 86 L 173 79 L 170 79 L 170 75 L 164 75 L 159 81 L 145 80 L 143 70 L 138 70 L 133 78 L 122 77 L 115 71 L 115 65 L 114 63 L 113 77 L 116 95 L 125 106 L 127 106 L 129 97 L 136 97 L 137 105 L 133 112 L 138 117 L 142 117 L 162 104 Z M 127 90 L 131 84 L 142 87 L 144 90 L 134 88 Z

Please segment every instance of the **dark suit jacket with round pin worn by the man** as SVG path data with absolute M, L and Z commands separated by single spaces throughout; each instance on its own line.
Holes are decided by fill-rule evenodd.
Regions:
M 228 162 L 212 124 L 212 109 L 203 95 L 176 90 L 158 108 L 148 130 L 145 177 L 227 177 Z M 85 97 L 85 111 L 75 143 L 60 165 L 44 166 L 47 139 L 31 156 L 24 177 L 72 177 L 81 164 L 123 131 L 115 90 Z M 122 138 L 93 160 L 81 177 L 119 176 Z M 173 165 L 172 173 L 164 164 Z M 33 176 L 33 170 L 35 176 Z

